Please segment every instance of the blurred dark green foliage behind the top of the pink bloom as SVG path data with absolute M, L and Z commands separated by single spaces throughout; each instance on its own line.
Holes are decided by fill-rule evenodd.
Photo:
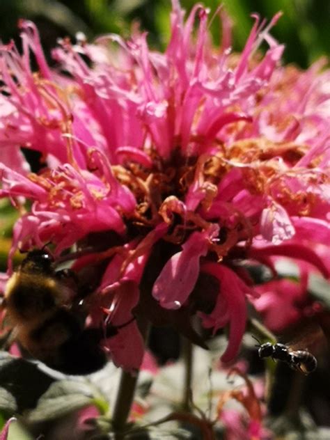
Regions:
M 181 0 L 189 11 L 194 0 Z M 211 15 L 219 7 L 219 0 L 205 0 Z M 242 49 L 253 20 L 251 13 L 259 13 L 268 20 L 283 11 L 283 17 L 272 30 L 272 35 L 285 42 L 285 61 L 306 68 L 330 49 L 330 1 L 316 0 L 223 0 L 223 5 L 235 26 L 235 49 Z M 129 35 L 132 22 L 140 22 L 149 32 L 152 46 L 164 47 L 169 33 L 170 0 L 1 0 L 1 38 L 8 42 L 17 39 L 17 19 L 31 19 L 40 29 L 46 52 L 56 44 L 56 38 L 74 36 L 77 31 L 93 38 L 100 33 L 115 32 Z M 219 42 L 219 21 L 214 19 L 212 34 Z

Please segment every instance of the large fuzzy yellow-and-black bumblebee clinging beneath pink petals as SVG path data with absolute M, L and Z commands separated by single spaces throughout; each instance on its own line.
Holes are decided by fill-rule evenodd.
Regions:
M 107 363 L 102 339 L 126 324 L 85 328 L 86 313 L 72 307 L 77 298 L 68 278 L 67 272 L 56 272 L 45 249 L 30 251 L 8 280 L 3 307 L 13 329 L 10 338 L 33 358 L 68 375 L 88 375 Z

